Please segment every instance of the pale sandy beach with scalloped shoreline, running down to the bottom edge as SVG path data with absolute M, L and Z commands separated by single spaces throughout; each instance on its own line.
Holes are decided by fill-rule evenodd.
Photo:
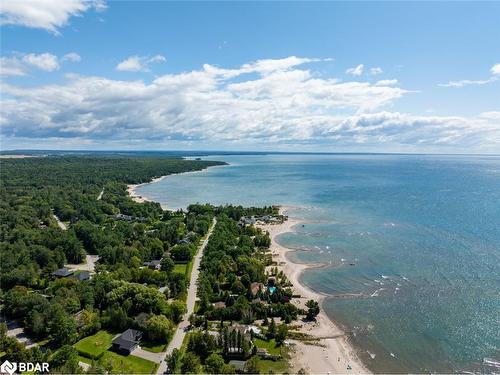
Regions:
M 293 208 L 282 207 L 281 212 L 287 214 Z M 276 242 L 276 237 L 285 232 L 291 232 L 292 227 L 299 224 L 300 221 L 289 218 L 283 224 L 257 225 L 271 236 L 270 251 L 273 254 L 273 260 L 277 262 L 278 269 L 283 270 L 290 282 L 293 284 L 294 294 L 301 298 L 294 298 L 292 302 L 296 306 L 305 308 L 305 303 L 309 299 L 314 299 L 322 305 L 325 298 L 299 282 L 300 274 L 308 268 L 317 267 L 317 265 L 293 263 L 287 258 L 288 252 L 294 250 L 281 246 Z M 295 325 L 296 323 L 294 323 Z M 292 371 L 297 372 L 300 369 L 306 370 L 312 374 L 361 374 L 369 373 L 357 357 L 354 348 L 347 341 L 344 332 L 333 321 L 328 318 L 323 309 L 316 318 L 316 322 L 302 322 L 298 331 L 318 338 L 317 344 L 306 344 L 297 340 L 290 340 L 295 345 L 292 346 Z M 350 370 L 348 370 L 350 366 Z

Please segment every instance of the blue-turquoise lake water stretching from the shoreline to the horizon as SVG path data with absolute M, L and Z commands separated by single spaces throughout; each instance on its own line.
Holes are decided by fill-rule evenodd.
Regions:
M 283 204 L 305 221 L 278 239 L 325 267 L 302 281 L 375 371 L 497 371 L 500 157 L 212 156 L 229 166 L 139 193 L 193 202 Z

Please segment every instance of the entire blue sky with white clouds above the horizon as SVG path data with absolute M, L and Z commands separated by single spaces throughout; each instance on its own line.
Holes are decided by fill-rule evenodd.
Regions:
M 500 2 L 0 0 L 1 149 L 500 153 Z

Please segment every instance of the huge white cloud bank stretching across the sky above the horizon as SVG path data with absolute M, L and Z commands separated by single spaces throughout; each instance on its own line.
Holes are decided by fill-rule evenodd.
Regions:
M 174 141 L 233 147 L 500 145 L 493 112 L 471 118 L 390 112 L 386 107 L 408 93 L 395 80 L 340 82 L 305 68 L 315 61 L 259 60 L 233 69 L 204 65 L 151 82 L 73 75 L 57 85 L 4 85 L 1 131 L 8 138 L 143 147 Z

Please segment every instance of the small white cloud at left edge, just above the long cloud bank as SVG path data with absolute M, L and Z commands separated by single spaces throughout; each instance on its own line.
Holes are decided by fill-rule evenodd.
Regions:
M 46 72 L 54 72 L 59 70 L 61 62 L 77 62 L 80 61 L 80 56 L 71 52 L 58 58 L 51 53 L 14 53 L 9 57 L 0 59 L 0 75 L 2 76 L 24 76 L 31 69 L 43 70 Z

